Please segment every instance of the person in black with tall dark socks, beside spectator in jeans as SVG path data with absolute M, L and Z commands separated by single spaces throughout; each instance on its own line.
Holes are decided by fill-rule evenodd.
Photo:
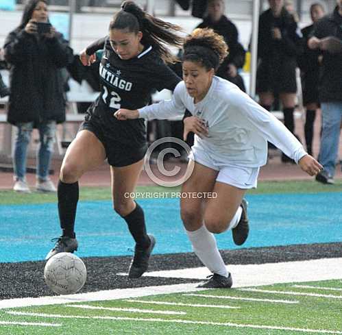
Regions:
M 308 38 L 313 33 L 315 24 L 324 16 L 324 8 L 320 3 L 313 3 L 310 6 L 310 16 L 313 24 L 302 29 L 304 38 L 304 52 L 298 58 L 298 65 L 302 74 L 303 104 L 306 108 L 306 121 L 304 125 L 304 134 L 306 142 L 306 151 L 313 155 L 313 124 L 315 122 L 317 108 L 319 103 L 319 73 L 321 69 L 321 51 L 319 49 L 311 50 L 308 47 Z

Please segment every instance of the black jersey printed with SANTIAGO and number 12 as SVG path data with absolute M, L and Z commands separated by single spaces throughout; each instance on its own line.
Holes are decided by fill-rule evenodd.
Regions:
M 181 79 L 164 64 L 151 46 L 145 47 L 130 60 L 121 60 L 110 46 L 109 38 L 105 38 L 88 47 L 87 53 L 90 55 L 101 48 L 101 94 L 89 114 L 100 119 L 103 132 L 110 139 L 130 146 L 145 145 L 145 121 L 119 121 L 114 117 L 114 112 L 119 108 L 142 108 L 149 103 L 155 90 L 173 90 Z

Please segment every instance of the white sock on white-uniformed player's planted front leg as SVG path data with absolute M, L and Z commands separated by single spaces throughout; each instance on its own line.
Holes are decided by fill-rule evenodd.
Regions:
M 228 271 L 217 249 L 214 235 L 208 232 L 205 225 L 202 225 L 195 232 L 188 232 L 188 238 L 193 245 L 193 251 L 201 262 L 212 272 L 228 277 Z

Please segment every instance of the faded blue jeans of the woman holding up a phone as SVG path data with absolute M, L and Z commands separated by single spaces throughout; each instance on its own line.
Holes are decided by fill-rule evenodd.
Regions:
M 14 149 L 14 177 L 25 180 L 26 175 L 26 154 L 29 140 L 31 140 L 34 123 L 17 124 L 18 132 Z M 48 179 L 51 156 L 53 153 L 53 143 L 56 135 L 56 121 L 47 121 L 38 125 L 40 146 L 37 151 L 37 178 L 44 182 Z

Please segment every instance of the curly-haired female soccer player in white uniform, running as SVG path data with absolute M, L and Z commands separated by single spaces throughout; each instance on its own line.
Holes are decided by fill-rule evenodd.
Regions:
M 182 198 L 181 216 L 198 258 L 213 273 L 201 287 L 231 287 L 232 276 L 212 233 L 232 229 L 237 245 L 249 227 L 243 199 L 255 188 L 260 166 L 267 162 L 267 141 L 291 157 L 309 175 L 322 166 L 309 156 L 289 130 L 237 86 L 215 76 L 227 45 L 211 29 L 195 29 L 184 43 L 183 81 L 169 101 L 139 110 L 118 110 L 119 120 L 168 119 L 188 110 L 186 132 L 195 132 L 195 169 L 183 184 L 184 193 L 216 193 L 215 199 Z M 125 121 L 127 122 L 127 121 Z

